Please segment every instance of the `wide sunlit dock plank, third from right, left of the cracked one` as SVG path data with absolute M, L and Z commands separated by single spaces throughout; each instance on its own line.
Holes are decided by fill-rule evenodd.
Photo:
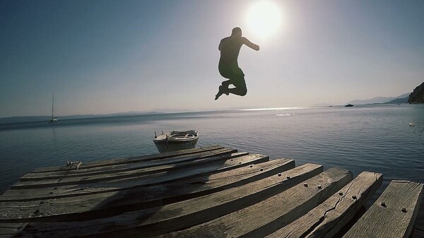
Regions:
M 305 215 L 351 180 L 348 170 L 330 168 L 253 206 L 163 237 L 264 237 Z

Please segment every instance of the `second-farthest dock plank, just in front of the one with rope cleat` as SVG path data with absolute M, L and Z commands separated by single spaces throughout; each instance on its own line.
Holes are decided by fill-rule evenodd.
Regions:
M 95 175 L 104 175 L 105 177 L 113 176 L 114 174 L 124 172 L 143 172 L 147 171 L 154 173 L 167 171 L 169 169 L 177 169 L 181 167 L 195 166 L 194 164 L 202 162 L 208 162 L 208 160 L 219 160 L 219 155 L 225 155 L 229 153 L 237 153 L 237 150 L 232 148 L 223 148 L 218 150 L 211 150 L 196 154 L 182 155 L 170 158 L 164 158 L 162 160 L 149 160 L 144 162 L 136 162 L 124 165 L 110 165 L 104 167 L 92 167 L 88 169 L 69 169 L 62 170 L 59 172 L 36 172 L 28 173 L 20 178 L 20 182 L 40 182 L 48 179 L 66 179 L 73 177 L 88 177 Z M 247 154 L 247 153 L 246 153 Z M 203 160 L 202 160 L 203 159 Z M 207 160 L 206 160 L 207 159 Z M 193 164 L 191 164 L 192 162 Z M 146 170 L 146 172 L 145 172 Z M 29 183 L 27 183 L 29 184 Z

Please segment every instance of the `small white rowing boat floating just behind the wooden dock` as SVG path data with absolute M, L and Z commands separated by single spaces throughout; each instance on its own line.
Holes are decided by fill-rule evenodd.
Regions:
M 199 140 L 199 133 L 194 130 L 190 131 L 170 131 L 163 133 L 160 136 L 156 136 L 153 142 L 158 148 L 159 153 L 175 151 L 175 150 L 186 150 L 196 148 L 196 143 Z

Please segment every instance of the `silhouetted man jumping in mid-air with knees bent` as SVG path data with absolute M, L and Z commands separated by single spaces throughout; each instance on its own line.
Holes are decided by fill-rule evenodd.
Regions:
M 231 36 L 225 37 L 220 41 L 218 49 L 220 50 L 219 73 L 228 81 L 223 81 L 218 88 L 218 93 L 215 95 L 215 100 L 218 100 L 220 95 L 229 95 L 229 93 L 244 96 L 247 93 L 245 73 L 239 68 L 237 57 L 240 48 L 243 44 L 248 47 L 259 50 L 259 45 L 253 44 L 247 38 L 242 37 L 242 29 L 232 29 Z M 235 88 L 228 88 L 228 85 L 234 85 Z

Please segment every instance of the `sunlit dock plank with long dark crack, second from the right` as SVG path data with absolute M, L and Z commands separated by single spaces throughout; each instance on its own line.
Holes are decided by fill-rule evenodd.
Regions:
M 382 174 L 362 172 L 338 193 L 271 237 L 334 237 L 381 186 Z

